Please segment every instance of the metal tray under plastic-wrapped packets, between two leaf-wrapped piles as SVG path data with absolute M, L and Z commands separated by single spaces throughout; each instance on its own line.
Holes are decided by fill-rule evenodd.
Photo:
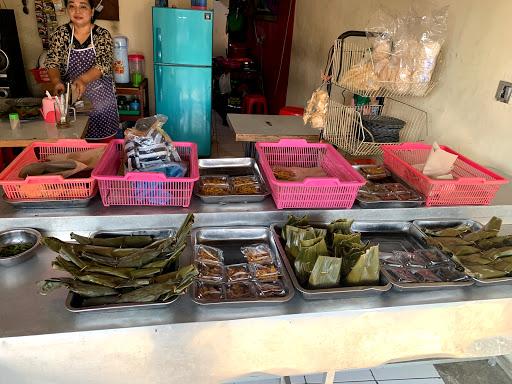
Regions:
M 213 305 L 215 307 L 226 306 L 233 308 L 236 306 L 247 307 L 247 305 L 271 305 L 282 304 L 291 300 L 295 294 L 290 277 L 286 273 L 281 260 L 277 245 L 268 227 L 204 227 L 192 230 L 192 247 L 194 248 L 192 261 L 195 263 L 196 253 L 195 246 L 202 244 L 219 248 L 223 251 L 224 265 L 240 264 L 245 262 L 244 256 L 240 251 L 240 247 L 252 244 L 264 243 L 270 247 L 273 253 L 273 259 L 276 267 L 279 270 L 280 281 L 286 289 L 286 295 L 282 297 L 268 297 L 259 298 L 254 296 L 252 299 L 241 300 L 221 300 L 221 301 L 206 301 L 197 298 L 197 286 L 193 284 L 191 289 L 192 300 L 200 305 Z

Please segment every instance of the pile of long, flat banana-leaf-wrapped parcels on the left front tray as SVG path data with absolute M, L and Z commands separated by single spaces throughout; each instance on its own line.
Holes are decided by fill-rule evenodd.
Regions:
M 166 302 L 183 294 L 199 273 L 194 265 L 173 270 L 193 222 L 193 215 L 187 215 L 176 234 L 158 240 L 150 236 L 95 239 L 71 234 L 77 243 L 67 243 L 44 238 L 42 243 L 59 254 L 52 267 L 71 277 L 39 282 L 39 291 L 46 295 L 64 287 L 90 305 Z

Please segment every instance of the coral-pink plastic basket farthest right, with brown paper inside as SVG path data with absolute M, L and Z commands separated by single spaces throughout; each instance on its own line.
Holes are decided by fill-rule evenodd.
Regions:
M 414 165 L 425 164 L 432 146 L 422 143 L 383 145 L 384 164 L 402 180 L 426 197 L 427 206 L 489 205 L 508 180 L 482 167 L 454 150 L 441 146 L 458 157 L 452 171 L 454 180 L 434 180 Z

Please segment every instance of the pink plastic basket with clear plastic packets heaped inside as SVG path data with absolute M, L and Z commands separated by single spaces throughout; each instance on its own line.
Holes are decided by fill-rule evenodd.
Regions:
M 125 176 L 117 176 L 124 154 L 124 140 L 112 140 L 92 174 L 98 181 L 103 205 L 188 207 L 194 183 L 199 180 L 197 145 L 179 142 L 174 145 L 181 159 L 189 162 L 189 177 L 166 177 L 155 172 L 128 172 Z

